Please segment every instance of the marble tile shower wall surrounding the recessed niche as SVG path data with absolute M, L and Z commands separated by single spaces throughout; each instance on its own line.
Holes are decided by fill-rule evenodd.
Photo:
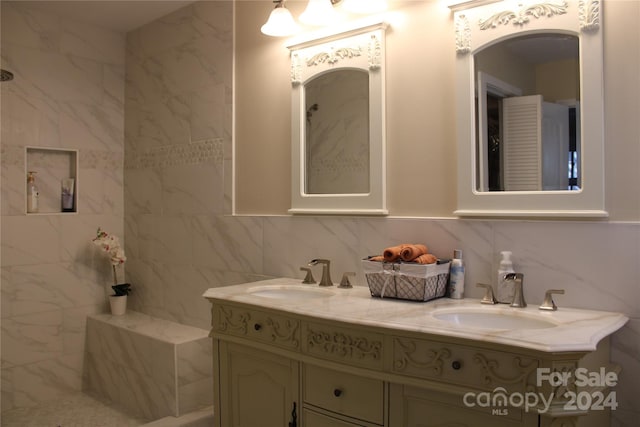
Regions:
M 15 75 L 1 85 L 8 410 L 80 390 L 86 315 L 106 310 L 110 266 L 89 240 L 99 226 L 124 233 L 125 38 L 28 2 L 1 7 L 2 66 Z M 77 214 L 25 215 L 25 146 L 78 150 Z

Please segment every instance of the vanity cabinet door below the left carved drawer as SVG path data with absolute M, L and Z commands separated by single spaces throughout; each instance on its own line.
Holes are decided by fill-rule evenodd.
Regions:
M 300 425 L 298 362 L 228 342 L 219 351 L 221 427 L 286 427 L 294 404 Z

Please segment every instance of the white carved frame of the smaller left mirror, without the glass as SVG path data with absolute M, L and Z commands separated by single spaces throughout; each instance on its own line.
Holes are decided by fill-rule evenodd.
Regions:
M 384 22 L 351 28 L 324 37 L 295 41 L 291 51 L 291 209 L 293 214 L 387 215 L 385 153 Z M 305 84 L 340 69 L 369 74 L 369 192 L 305 193 Z

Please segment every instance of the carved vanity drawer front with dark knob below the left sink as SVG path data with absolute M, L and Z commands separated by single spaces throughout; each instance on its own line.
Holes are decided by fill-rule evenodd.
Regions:
M 300 348 L 300 322 L 279 314 L 214 305 L 211 308 L 211 326 L 213 336 L 234 335 L 289 349 Z

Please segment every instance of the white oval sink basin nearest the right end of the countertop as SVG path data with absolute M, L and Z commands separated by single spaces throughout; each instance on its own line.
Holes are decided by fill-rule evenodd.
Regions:
M 547 320 L 515 312 L 447 311 L 436 312 L 433 317 L 456 325 L 482 329 L 544 329 L 557 326 Z

